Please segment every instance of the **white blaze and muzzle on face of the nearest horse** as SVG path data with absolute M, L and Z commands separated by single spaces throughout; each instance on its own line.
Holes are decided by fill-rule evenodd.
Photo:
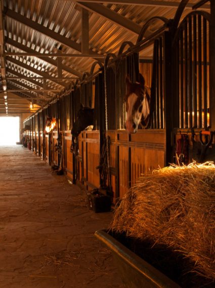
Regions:
M 138 130 L 138 125 L 141 121 L 142 111 L 139 112 L 138 109 L 135 114 L 133 113 L 134 112 L 133 108 L 137 100 L 138 96 L 135 93 L 132 93 L 127 99 L 128 110 L 127 110 L 127 120 L 125 122 L 125 127 L 128 133 L 136 133 Z

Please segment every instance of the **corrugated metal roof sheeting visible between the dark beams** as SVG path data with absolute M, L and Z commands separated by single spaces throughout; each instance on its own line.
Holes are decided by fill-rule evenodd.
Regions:
M 180 0 L 166 0 L 170 2 L 178 2 Z M 157 3 L 158 1 L 156 1 Z M 160 2 L 162 2 L 160 0 Z M 196 3 L 195 0 L 190 3 Z M 95 4 L 97 5 L 97 4 Z M 172 19 L 175 16 L 177 7 L 163 7 L 163 6 L 144 6 L 144 5 L 122 5 L 122 4 L 103 4 L 106 8 L 119 15 L 134 21 L 135 23 L 143 26 L 144 23 L 154 16 L 162 16 L 167 19 Z M 7 52 L 23 52 L 18 47 L 12 44 L 7 44 L 7 37 L 22 45 L 30 48 L 32 51 L 39 53 L 55 53 L 61 46 L 63 53 L 77 54 L 78 52 L 72 47 L 59 43 L 58 40 L 53 39 L 43 33 L 42 26 L 49 28 L 66 38 L 69 38 L 76 43 L 81 43 L 81 8 L 71 0 L 5 0 L 4 6 L 22 16 L 26 17 L 26 25 L 18 22 L 17 20 L 5 17 L 5 37 Z M 191 10 L 185 9 L 183 16 Z M 30 19 L 41 25 L 40 31 L 30 28 L 27 20 Z M 162 25 L 161 21 L 154 22 L 149 31 L 154 32 Z M 90 36 L 90 49 L 98 54 L 114 53 L 118 54 L 119 47 L 124 41 L 131 41 L 134 44 L 137 41 L 138 35 L 126 28 L 107 20 L 101 15 L 89 12 L 89 36 Z M 142 53 L 142 55 L 152 56 L 152 46 Z M 13 63 L 13 59 L 16 63 Z M 57 61 L 57 58 L 52 57 Z M 19 61 L 19 65 L 17 64 Z M 95 62 L 93 58 L 63 58 L 62 63 L 70 68 L 75 69 L 78 73 L 90 72 L 91 66 Z M 46 72 L 52 77 L 57 76 L 57 67 L 47 63 L 44 59 L 39 59 L 32 56 L 10 56 L 7 57 L 7 68 L 14 70 L 19 74 L 27 77 L 35 77 L 35 71 L 30 71 L 31 67 L 40 71 Z M 29 70 L 22 68 L 22 63 L 29 65 Z M 6 68 L 6 71 L 7 71 Z M 9 76 L 14 76 L 8 73 Z M 74 76 L 71 72 L 63 70 L 64 77 Z M 17 80 L 30 88 L 38 88 L 35 84 L 30 83 L 29 80 Z M 38 84 L 42 85 L 42 80 L 37 80 Z M 67 86 L 70 85 L 70 80 L 63 83 Z M 15 84 L 17 85 L 17 83 Z M 47 80 L 47 85 L 50 88 L 65 89 L 59 83 Z M 32 93 L 33 94 L 33 93 Z M 48 96 L 52 97 L 53 92 L 48 92 Z

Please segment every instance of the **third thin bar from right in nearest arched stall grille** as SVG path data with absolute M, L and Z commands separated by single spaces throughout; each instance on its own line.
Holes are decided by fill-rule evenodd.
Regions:
M 193 127 L 197 127 L 197 21 L 193 15 Z

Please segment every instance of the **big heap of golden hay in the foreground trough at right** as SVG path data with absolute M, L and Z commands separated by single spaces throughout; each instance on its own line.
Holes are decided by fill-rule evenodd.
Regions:
M 215 165 L 172 165 L 141 177 L 116 208 L 111 229 L 166 245 L 214 281 Z

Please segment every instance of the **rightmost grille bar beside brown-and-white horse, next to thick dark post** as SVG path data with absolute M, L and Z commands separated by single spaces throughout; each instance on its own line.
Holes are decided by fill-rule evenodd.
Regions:
M 159 100 L 158 100 L 158 127 L 163 128 L 163 53 L 162 37 L 159 39 Z

